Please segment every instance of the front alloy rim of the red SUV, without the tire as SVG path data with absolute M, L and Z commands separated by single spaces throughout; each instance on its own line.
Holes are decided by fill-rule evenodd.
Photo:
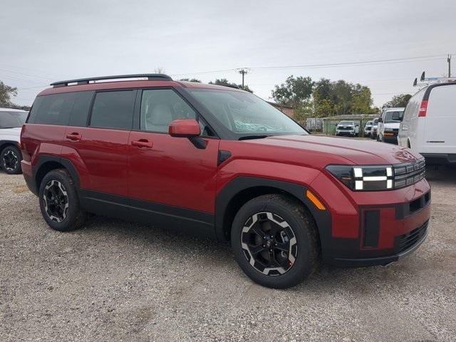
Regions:
M 241 246 L 249 264 L 269 276 L 289 271 L 298 254 L 293 229 L 272 212 L 249 217 L 242 229 Z

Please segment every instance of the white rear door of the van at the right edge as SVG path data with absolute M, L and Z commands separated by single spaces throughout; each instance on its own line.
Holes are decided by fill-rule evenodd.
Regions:
M 456 153 L 456 84 L 435 86 L 427 100 L 424 119 L 424 150 L 427 153 Z

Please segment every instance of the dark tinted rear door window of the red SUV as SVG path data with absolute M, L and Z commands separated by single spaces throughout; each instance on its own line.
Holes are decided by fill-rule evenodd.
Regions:
M 133 123 L 135 90 L 97 93 L 93 103 L 90 126 L 130 130 Z

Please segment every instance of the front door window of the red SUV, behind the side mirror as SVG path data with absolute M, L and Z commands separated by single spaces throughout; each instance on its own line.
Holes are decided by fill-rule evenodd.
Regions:
M 174 90 L 142 90 L 141 130 L 167 133 L 172 120 L 195 118 L 195 110 Z

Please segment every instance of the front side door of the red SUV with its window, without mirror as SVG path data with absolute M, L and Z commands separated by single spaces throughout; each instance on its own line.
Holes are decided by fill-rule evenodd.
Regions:
M 213 227 L 219 140 L 199 149 L 168 135 L 172 120 L 197 118 L 171 88 L 142 90 L 138 130 L 128 142 L 128 188 L 134 214 L 152 224 L 210 231 Z

